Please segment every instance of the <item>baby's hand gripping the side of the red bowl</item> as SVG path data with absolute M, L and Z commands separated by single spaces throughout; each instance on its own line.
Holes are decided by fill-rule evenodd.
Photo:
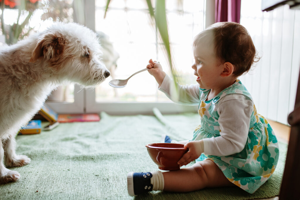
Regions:
M 199 156 L 204 152 L 203 141 L 190 141 L 184 145 L 188 148 L 187 153 L 185 153 L 182 158 L 177 162 L 179 166 L 187 165 L 193 160 L 199 158 Z

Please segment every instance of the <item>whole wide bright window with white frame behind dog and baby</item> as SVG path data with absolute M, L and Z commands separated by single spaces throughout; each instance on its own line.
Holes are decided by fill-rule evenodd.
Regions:
M 61 86 L 46 103 L 58 113 L 106 111 L 110 114 L 145 114 L 152 113 L 154 107 L 164 113 L 195 111 L 193 106 L 181 106 L 171 102 L 158 91 L 154 77 L 146 71 L 132 77 L 125 88 L 116 89 L 108 85 L 113 78 L 126 79 L 136 71 L 146 68 L 150 58 L 159 61 L 169 76 L 170 70 L 158 32 L 149 18 L 146 1 L 111 0 L 104 19 L 106 2 L 41 0 L 34 3 L 36 7 L 25 26 L 26 30 L 41 31 L 56 20 L 85 24 L 102 37 L 104 56 L 109 55 L 103 60 L 112 74 L 95 89 L 82 89 L 74 83 Z M 155 6 L 155 0 L 152 0 L 152 5 Z M 173 67 L 180 74 L 181 84 L 196 83 L 191 69 L 192 42 L 193 37 L 205 27 L 205 6 L 205 0 L 166 0 Z M 80 13 L 80 9 L 84 11 Z M 7 14 L 9 12 L 12 14 Z M 21 24 L 29 14 L 28 11 L 22 12 L 20 21 L 17 22 L 17 9 L 7 8 L 3 13 L 7 20 L 5 23 L 10 26 Z M 0 14 L 3 13 L 1 11 Z M 107 54 L 107 51 L 112 50 L 111 47 L 113 53 Z

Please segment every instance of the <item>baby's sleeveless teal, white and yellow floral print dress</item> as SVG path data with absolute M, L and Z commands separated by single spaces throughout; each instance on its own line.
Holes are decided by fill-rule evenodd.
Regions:
M 199 110 L 201 124 L 193 132 L 193 140 L 219 137 L 219 115 L 216 105 L 228 94 L 243 94 L 252 99 L 250 93 L 240 80 L 221 91 L 209 101 L 205 101 L 210 90 L 200 89 Z M 202 154 L 196 162 L 211 159 L 222 170 L 229 181 L 249 193 L 255 192 L 265 181 L 271 178 L 279 158 L 279 147 L 270 124 L 257 114 L 253 104 L 250 128 L 244 149 L 229 156 Z

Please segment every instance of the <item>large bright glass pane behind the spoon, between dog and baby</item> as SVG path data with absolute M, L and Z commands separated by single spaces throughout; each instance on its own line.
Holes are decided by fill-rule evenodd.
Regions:
M 166 95 L 158 91 L 155 78 L 146 71 L 132 77 L 124 88 L 108 85 L 112 79 L 127 79 L 146 68 L 151 58 L 159 61 L 171 76 L 168 59 L 149 17 L 146 1 L 118 0 L 112 3 L 104 19 L 105 4 L 96 0 L 95 29 L 98 34 L 106 35 L 101 40 L 103 59 L 111 72 L 111 76 L 96 87 L 96 102 L 170 102 Z M 155 6 L 155 1 L 152 5 Z M 192 43 L 193 37 L 203 29 L 203 6 L 204 1 L 198 0 L 166 1 L 172 59 L 174 68 L 181 76 L 181 84 L 196 83 L 191 68 Z

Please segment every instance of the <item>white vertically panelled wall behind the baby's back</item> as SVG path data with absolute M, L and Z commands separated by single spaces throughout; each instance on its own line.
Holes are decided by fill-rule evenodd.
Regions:
M 259 114 L 287 124 L 295 105 L 300 66 L 300 10 L 282 6 L 262 12 L 260 1 L 242 1 L 241 24 L 249 31 L 260 61 L 240 77 Z

